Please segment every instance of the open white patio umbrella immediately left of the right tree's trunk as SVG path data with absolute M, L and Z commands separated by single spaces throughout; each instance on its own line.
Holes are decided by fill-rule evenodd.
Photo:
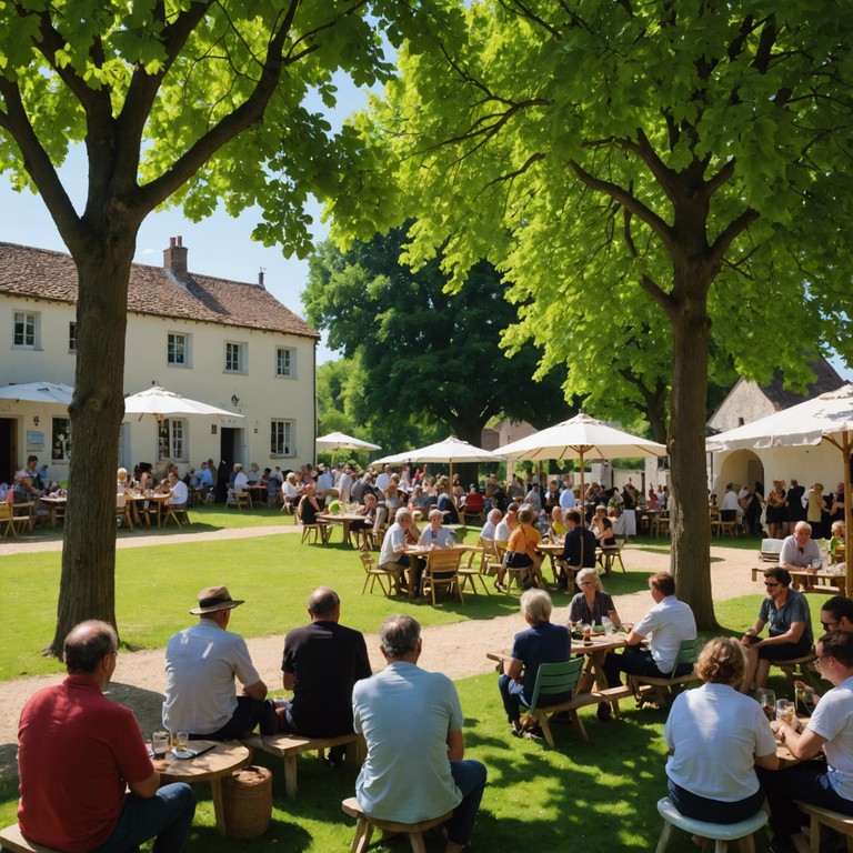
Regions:
M 616 456 L 665 456 L 666 448 L 596 421 L 583 412 L 574 418 L 504 444 L 494 451 L 495 459 L 579 459 L 581 461 L 581 502 L 583 503 L 583 466 L 588 459 Z

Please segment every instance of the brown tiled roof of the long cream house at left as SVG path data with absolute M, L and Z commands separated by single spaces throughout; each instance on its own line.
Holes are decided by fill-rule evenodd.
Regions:
M 70 255 L 0 242 L 0 293 L 77 302 L 77 268 Z M 199 322 L 320 335 L 260 284 L 190 273 L 185 289 L 161 267 L 134 263 L 128 310 Z

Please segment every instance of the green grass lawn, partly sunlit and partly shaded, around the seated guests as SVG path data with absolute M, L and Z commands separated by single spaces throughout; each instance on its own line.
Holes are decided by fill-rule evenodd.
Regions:
M 280 524 L 282 515 L 259 510 L 225 513 L 217 508 L 195 513 L 208 529 Z M 265 521 L 262 521 L 265 520 Z M 288 518 L 290 523 L 290 518 Z M 195 526 L 198 529 L 198 526 Z M 124 536 L 126 534 L 121 534 Z M 131 536 L 133 534 L 127 534 Z M 504 595 L 466 599 L 465 606 L 449 602 L 441 608 L 362 595 L 363 572 L 358 554 L 334 533 L 329 546 L 302 545 L 294 534 L 257 540 L 163 544 L 120 550 L 117 556 L 117 610 L 122 641 L 133 648 L 160 648 L 177 630 L 189 624 L 188 609 L 200 588 L 228 584 L 235 598 L 245 599 L 234 629 L 247 636 L 283 633 L 305 620 L 310 591 L 329 583 L 340 592 L 343 619 L 365 632 L 375 632 L 390 609 L 412 613 L 424 625 L 462 620 L 488 620 L 518 612 L 518 599 Z M 469 540 L 475 538 L 469 532 Z M 726 545 L 729 543 L 726 542 Z M 739 544 L 739 543 L 737 543 Z M 638 551 L 666 548 L 665 541 L 643 543 Z M 749 544 L 754 548 L 754 543 Z M 51 639 L 60 571 L 58 553 L 0 556 L 6 588 L 14 590 L 0 643 L 0 679 L 58 672 L 56 661 L 39 650 Z M 646 589 L 648 571 L 615 573 L 608 581 L 614 595 Z M 740 634 L 755 619 L 760 595 L 721 602 L 716 613 L 723 633 Z M 814 602 L 814 600 L 812 600 Z M 816 602 L 814 602 L 816 603 Z M 816 608 L 812 606 L 813 615 Z M 815 624 L 817 632 L 820 625 Z M 123 665 L 132 665 L 131 658 Z M 456 682 L 465 711 L 468 756 L 483 761 L 489 785 L 474 830 L 475 850 L 493 853 L 541 847 L 581 851 L 653 850 L 661 830 L 655 803 L 665 794 L 665 714 L 635 710 L 623 702 L 619 721 L 599 723 L 594 709 L 581 711 L 590 734 L 584 743 L 572 726 L 554 726 L 558 747 L 510 736 L 498 694 L 496 676 L 479 675 Z M 779 678 L 771 685 L 779 695 L 790 690 Z M 413 741 L 418 733 L 412 732 Z M 13 744 L 3 744 L 3 757 L 13 761 Z M 299 795 L 284 797 L 280 760 L 264 754 L 255 762 L 273 771 L 273 820 L 268 832 L 252 842 L 221 839 L 214 829 L 207 784 L 199 785 L 199 811 L 187 851 L 345 851 L 354 823 L 340 810 L 353 791 L 355 774 L 349 767 L 330 770 L 313 756 L 299 760 Z M 0 820 L 14 821 L 17 790 L 10 773 L 0 777 Z M 430 850 L 440 850 L 429 842 Z M 150 849 L 150 845 L 149 847 Z M 401 840 L 378 842 L 378 853 L 408 850 Z M 759 845 L 761 849 L 761 845 Z M 695 847 L 683 833 L 670 846 L 673 853 Z

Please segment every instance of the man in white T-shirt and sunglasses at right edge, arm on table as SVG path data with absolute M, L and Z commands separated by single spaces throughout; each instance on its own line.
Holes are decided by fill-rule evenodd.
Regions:
M 853 815 L 853 633 L 831 631 L 815 644 L 821 675 L 834 685 L 804 729 L 794 719 L 772 723 L 776 736 L 803 763 L 779 771 L 757 767 L 770 802 L 773 853 L 806 851 L 795 800 Z M 823 750 L 826 761 L 807 761 Z

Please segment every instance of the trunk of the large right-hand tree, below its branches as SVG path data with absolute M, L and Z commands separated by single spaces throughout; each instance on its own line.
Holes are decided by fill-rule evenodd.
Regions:
M 693 269 L 675 270 L 673 372 L 666 445 L 672 466 L 671 570 L 679 599 L 693 610 L 700 630 L 714 630 L 711 598 L 711 524 L 705 472 L 705 395 L 711 323 L 705 293 Z M 685 282 L 679 288 L 679 278 Z M 678 294 L 681 292 L 681 297 Z M 701 292 L 701 294 L 700 294 Z

